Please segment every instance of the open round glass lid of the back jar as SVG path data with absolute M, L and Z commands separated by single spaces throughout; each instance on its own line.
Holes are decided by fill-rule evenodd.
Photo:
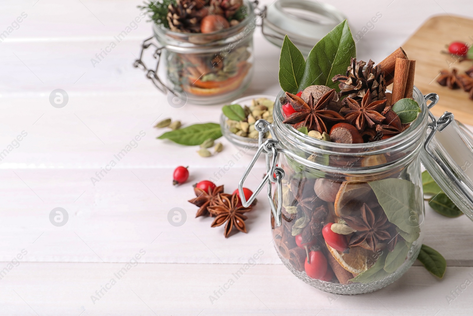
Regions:
M 346 17 L 335 7 L 311 0 L 276 0 L 265 12 L 263 35 L 282 47 L 288 35 L 303 55 Z

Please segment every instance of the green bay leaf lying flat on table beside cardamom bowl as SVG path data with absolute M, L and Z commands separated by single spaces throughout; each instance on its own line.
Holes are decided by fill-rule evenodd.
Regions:
M 181 145 L 196 146 L 202 144 L 206 139 L 217 139 L 222 136 L 220 124 L 205 123 L 194 124 L 175 131 L 166 132 L 157 137 L 158 139 L 169 139 Z

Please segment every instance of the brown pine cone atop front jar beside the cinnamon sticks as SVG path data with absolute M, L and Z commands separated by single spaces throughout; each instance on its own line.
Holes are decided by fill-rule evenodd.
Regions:
M 369 91 L 372 101 L 385 99 L 386 81 L 384 71 L 381 70 L 379 65 L 373 67 L 374 64 L 371 59 L 366 63 L 364 61 L 357 62 L 356 58 L 351 58 L 347 74 L 338 74 L 332 79 L 333 82 L 340 82 L 338 85 L 340 95 L 346 95 L 351 99 L 360 101 Z M 363 70 L 365 65 L 366 69 Z M 343 101 L 345 102 L 346 98 Z

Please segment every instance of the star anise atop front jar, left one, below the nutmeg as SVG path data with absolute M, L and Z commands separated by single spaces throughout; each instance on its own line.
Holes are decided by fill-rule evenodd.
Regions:
M 300 111 L 291 114 L 288 118 L 282 121 L 282 123 L 292 124 L 296 129 L 301 126 L 306 126 L 309 132 L 315 130 L 319 133 L 327 133 L 325 121 L 342 122 L 345 120 L 337 112 L 324 109 L 334 96 L 335 89 L 332 89 L 326 92 L 315 103 L 314 96 L 311 93 L 309 96 L 309 102 L 306 103 L 304 100 L 299 100 L 299 103 L 302 103 Z

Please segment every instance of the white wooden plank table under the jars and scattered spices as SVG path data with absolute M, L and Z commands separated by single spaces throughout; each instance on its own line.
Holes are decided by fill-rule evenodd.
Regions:
M 210 218 L 195 219 L 196 208 L 186 201 L 192 183 L 212 176 L 237 149 L 222 139 L 222 153 L 201 158 L 193 148 L 156 140 L 161 131 L 152 125 L 164 117 L 186 125 L 217 122 L 220 107 L 172 108 L 132 67 L 140 42 L 151 34 L 144 21 L 95 67 L 90 61 L 139 15 L 138 4 L 2 3 L 0 33 L 8 36 L 0 43 L 0 152 L 23 131 L 27 135 L 0 161 L 0 315 L 471 315 L 470 287 L 457 290 L 450 304 L 446 299 L 473 280 L 473 223 L 464 216 L 426 210 L 424 243 L 447 259 L 443 280 L 417 262 L 393 285 L 359 296 L 311 288 L 280 263 L 263 197 L 246 221 L 248 234 L 225 239 L 223 227 L 210 228 Z M 430 15 L 473 12 L 466 0 L 341 0 L 336 6 L 353 33 L 381 12 L 357 43 L 358 57 L 376 62 Z M 10 32 L 22 12 L 26 17 Z M 255 74 L 246 94 L 276 94 L 279 49 L 259 30 L 254 37 Z M 49 103 L 54 89 L 68 93 L 64 108 Z M 90 178 L 140 131 L 146 135 L 137 147 L 94 185 Z M 251 156 L 219 180 L 227 192 Z M 175 188 L 177 165 L 189 165 L 191 179 Z M 263 173 L 259 163 L 247 186 L 256 187 Z M 57 207 L 69 215 L 61 227 L 49 220 Z M 183 226 L 167 221 L 174 207 L 187 214 Z M 257 264 L 212 304 L 209 296 L 258 250 L 264 253 Z M 126 273 L 117 278 L 122 268 Z

